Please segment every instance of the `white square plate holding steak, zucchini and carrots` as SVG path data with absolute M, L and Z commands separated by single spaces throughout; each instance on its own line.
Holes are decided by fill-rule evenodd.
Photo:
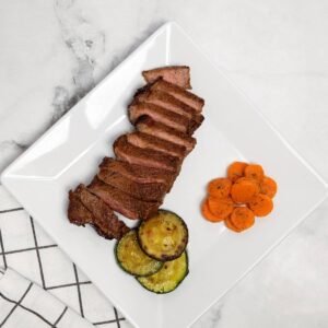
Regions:
M 163 208 L 190 231 L 190 273 L 173 293 L 148 292 L 116 265 L 114 242 L 67 220 L 68 190 L 87 183 L 117 136 L 131 129 L 127 104 L 144 82 L 141 71 L 188 65 L 194 91 L 206 99 L 198 144 Z M 279 184 L 274 212 L 235 234 L 201 218 L 206 184 L 235 160 L 258 162 Z M 277 245 L 325 197 L 325 183 L 174 23 L 156 31 L 2 175 L 3 185 L 99 290 L 140 328 L 194 323 Z

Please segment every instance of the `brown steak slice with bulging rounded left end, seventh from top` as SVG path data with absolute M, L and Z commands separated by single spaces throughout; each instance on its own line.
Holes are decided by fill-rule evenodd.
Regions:
M 180 167 L 179 159 L 155 150 L 136 147 L 128 142 L 125 134 L 115 140 L 113 149 L 119 160 L 131 164 L 157 167 L 172 173 L 178 172 Z

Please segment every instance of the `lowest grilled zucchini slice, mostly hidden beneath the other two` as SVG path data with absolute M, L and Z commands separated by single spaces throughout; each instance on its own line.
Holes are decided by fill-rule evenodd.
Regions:
M 165 294 L 174 291 L 188 272 L 188 256 L 184 251 L 175 260 L 164 262 L 163 268 L 159 272 L 148 277 L 139 277 L 137 280 L 147 290 L 156 294 Z

